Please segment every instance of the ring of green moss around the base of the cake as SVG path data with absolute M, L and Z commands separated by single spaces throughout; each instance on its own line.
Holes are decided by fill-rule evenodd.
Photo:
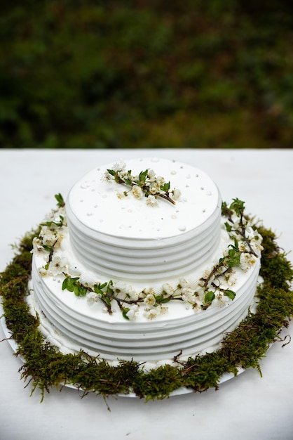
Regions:
M 217 389 L 223 373 L 238 374 L 238 368 L 257 368 L 259 361 L 272 342 L 280 340 L 280 329 L 287 327 L 293 316 L 293 292 L 289 282 L 293 269 L 285 255 L 275 243 L 275 235 L 260 228 L 264 237 L 261 275 L 264 283 L 259 287 L 257 313 L 245 318 L 238 328 L 226 335 L 221 349 L 205 356 L 189 358 L 179 362 L 178 367 L 163 365 L 147 371 L 133 361 L 120 361 L 111 366 L 102 358 L 93 358 L 83 351 L 62 355 L 57 348 L 43 341 L 38 330 L 38 319 L 30 315 L 25 297 L 30 276 L 28 261 L 32 254 L 27 249 L 32 235 L 27 235 L 20 244 L 15 259 L 0 278 L 4 315 L 13 338 L 18 342 L 18 355 L 24 359 L 22 378 L 32 382 L 32 391 L 39 387 L 43 399 L 50 387 L 75 384 L 84 395 L 95 392 L 103 396 L 135 392 L 149 399 L 163 399 L 180 387 L 194 392 L 207 388 Z M 209 298 L 207 298 L 208 300 Z

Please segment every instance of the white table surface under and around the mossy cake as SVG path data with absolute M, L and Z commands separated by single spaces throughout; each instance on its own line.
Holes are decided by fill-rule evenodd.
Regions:
M 292 150 L 0 150 L 0 271 L 13 257 L 10 245 L 66 197 L 76 179 L 98 164 L 121 158 L 157 156 L 203 169 L 223 200 L 245 200 L 293 250 Z M 292 259 L 292 254 L 288 255 Z M 282 335 L 291 334 L 293 323 Z M 0 329 L 0 339 L 4 335 Z M 53 389 L 40 403 L 20 381 L 21 362 L 8 342 L 0 343 L 0 439 L 293 439 L 293 341 L 275 343 L 261 361 L 263 377 L 247 370 L 219 391 L 186 394 L 163 401 L 81 399 L 74 389 Z

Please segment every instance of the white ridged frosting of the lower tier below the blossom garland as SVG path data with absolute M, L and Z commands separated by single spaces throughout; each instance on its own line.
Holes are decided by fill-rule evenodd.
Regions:
M 86 297 L 62 291 L 62 276 L 40 276 L 41 263 L 41 254 L 34 254 L 31 295 L 49 340 L 64 352 L 86 349 L 109 361 L 160 361 L 172 359 L 181 351 L 183 356 L 196 355 L 218 344 L 224 332 L 236 328 L 254 304 L 260 264 L 257 261 L 247 272 L 236 268 L 236 298 L 226 306 L 211 306 L 196 313 L 186 303 L 172 302 L 168 304 L 168 315 L 154 321 L 141 315 L 130 322 L 118 311 L 104 313 L 100 302 L 90 305 Z

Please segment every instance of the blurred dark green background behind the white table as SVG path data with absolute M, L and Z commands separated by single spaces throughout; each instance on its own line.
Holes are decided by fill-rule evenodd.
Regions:
M 292 148 L 289 0 L 3 4 L 2 148 Z

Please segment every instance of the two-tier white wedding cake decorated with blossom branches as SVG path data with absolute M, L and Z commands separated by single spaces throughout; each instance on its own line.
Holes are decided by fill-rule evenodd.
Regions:
M 62 353 L 172 363 L 219 347 L 253 310 L 261 235 L 200 169 L 105 164 L 56 198 L 27 302 Z

